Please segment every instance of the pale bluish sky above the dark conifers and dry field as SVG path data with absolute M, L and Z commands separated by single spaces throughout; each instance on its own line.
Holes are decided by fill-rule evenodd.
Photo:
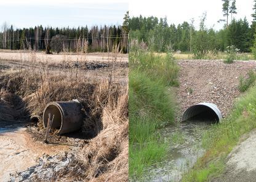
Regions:
M 0 0 L 0 25 L 121 25 L 128 0 Z

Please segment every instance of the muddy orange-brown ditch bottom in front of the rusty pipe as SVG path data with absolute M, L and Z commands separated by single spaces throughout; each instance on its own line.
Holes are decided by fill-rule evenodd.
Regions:
M 56 161 L 60 168 L 73 160 L 70 153 L 78 148 L 78 139 L 71 138 L 72 141 L 68 143 L 73 144 L 61 144 L 63 141 L 45 144 L 36 140 L 38 138 L 28 129 L 31 130 L 23 121 L 15 124 L 0 122 L 0 181 L 23 181 L 36 173 L 36 166 L 44 160 Z M 66 162 L 59 159 L 62 153 L 66 153 L 66 156 L 70 154 L 66 157 Z M 52 168 L 49 170 L 54 173 Z M 48 173 L 50 174 L 49 171 Z

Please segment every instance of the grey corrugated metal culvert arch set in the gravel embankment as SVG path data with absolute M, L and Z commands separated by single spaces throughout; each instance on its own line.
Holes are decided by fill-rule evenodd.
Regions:
M 182 121 L 220 122 L 222 113 L 214 103 L 198 103 L 183 113 Z

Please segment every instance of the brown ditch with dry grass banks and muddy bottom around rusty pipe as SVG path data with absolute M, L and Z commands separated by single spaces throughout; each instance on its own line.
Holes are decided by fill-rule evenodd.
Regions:
M 12 65 L 9 66 L 12 67 Z M 22 114 L 19 111 L 23 111 L 23 109 L 19 110 L 20 108 L 16 108 L 15 103 L 11 101 L 9 108 L 14 108 L 14 111 L 18 112 L 18 117 L 11 118 L 10 125 L 16 124 L 19 117 L 23 124 L 26 124 L 29 116 L 34 114 L 42 116 L 42 111 L 47 103 L 56 100 L 79 99 L 83 108 L 82 112 L 85 115 L 81 130 L 65 136 L 51 133 L 50 144 L 42 143 L 45 129 L 42 129 L 40 122 L 27 127 L 27 132 L 22 130 L 22 133 L 18 132 L 13 137 L 6 130 L 2 132 L 1 136 L 3 137 L 1 138 L 10 140 L 10 144 L 7 144 L 6 147 L 14 150 L 13 155 L 0 152 L 0 157 L 3 159 L 9 155 L 9 160 L 1 160 L 1 162 L 4 161 L 1 163 L 3 169 L 1 172 L 5 175 L 3 180 L 89 181 L 97 178 L 97 181 L 127 181 L 127 84 L 126 82 L 114 82 L 109 75 L 107 77 L 108 79 L 95 81 L 95 79 L 88 79 L 83 74 L 52 74 L 47 70 L 38 72 L 30 67 L 25 70 L 1 69 L 1 93 L 20 98 L 24 103 L 23 109 L 28 112 L 25 114 L 26 117 L 20 117 Z M 1 101 L 7 103 L 8 100 L 1 95 Z M 4 105 L 1 104 L 1 106 Z M 0 108 L 0 116 L 7 114 L 7 110 L 8 108 L 5 107 Z M 10 115 L 12 116 L 12 114 Z M 1 127 L 5 129 L 6 125 L 2 119 L 0 122 Z M 20 127 L 24 127 L 24 125 L 17 125 L 15 130 L 18 131 Z M 14 130 L 9 130 L 9 132 L 13 134 Z M 19 140 L 16 140 L 18 138 L 26 141 L 23 142 L 25 144 L 19 143 Z M 39 152 L 31 149 L 33 144 L 34 148 L 44 147 L 40 147 Z M 56 152 L 47 152 L 49 148 L 55 148 Z M 42 152 L 46 154 L 43 155 Z M 31 160 L 26 162 L 21 160 L 22 157 Z M 20 167 L 21 165 L 18 164 L 24 161 L 26 165 Z M 8 166 L 12 164 L 17 165 L 8 171 Z

